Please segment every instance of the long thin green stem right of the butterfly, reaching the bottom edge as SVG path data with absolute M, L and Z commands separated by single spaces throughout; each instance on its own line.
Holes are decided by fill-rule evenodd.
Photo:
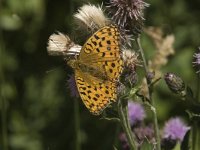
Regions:
M 144 55 L 144 51 L 143 51 L 142 46 L 141 46 L 140 37 L 137 38 L 136 42 L 137 42 L 138 47 L 139 47 L 139 52 L 140 52 L 141 57 L 142 57 L 142 62 L 143 62 L 145 74 L 147 76 L 147 74 L 148 74 L 147 62 L 146 62 L 146 58 L 145 58 L 145 55 Z M 147 78 L 146 78 L 146 81 L 147 81 Z M 149 91 L 149 100 L 150 100 L 151 105 L 153 107 L 152 112 L 153 112 L 153 123 L 154 123 L 154 131 L 155 131 L 155 138 L 156 138 L 156 150 L 161 150 L 157 113 L 156 113 L 154 100 L 152 99 L 153 86 L 151 86 L 148 83 L 148 81 L 147 81 L 147 84 L 148 84 L 148 91 Z

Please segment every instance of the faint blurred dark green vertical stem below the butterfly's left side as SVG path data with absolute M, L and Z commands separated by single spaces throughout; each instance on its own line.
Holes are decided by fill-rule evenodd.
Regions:
M 80 140 L 80 113 L 78 99 L 74 99 L 75 150 L 81 150 Z

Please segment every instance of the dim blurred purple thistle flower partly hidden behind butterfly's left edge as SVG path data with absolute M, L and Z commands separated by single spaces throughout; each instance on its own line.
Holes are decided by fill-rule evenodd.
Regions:
M 76 81 L 74 75 L 70 75 L 68 82 L 68 87 L 72 97 L 79 97 L 79 92 L 76 86 Z

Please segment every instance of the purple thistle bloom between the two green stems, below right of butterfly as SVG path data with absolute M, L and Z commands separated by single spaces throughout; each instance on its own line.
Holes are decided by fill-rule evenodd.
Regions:
M 128 115 L 131 126 L 137 125 L 146 116 L 143 106 L 131 101 L 128 102 Z

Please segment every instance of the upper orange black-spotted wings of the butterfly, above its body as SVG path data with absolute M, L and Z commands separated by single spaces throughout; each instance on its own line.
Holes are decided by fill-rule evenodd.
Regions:
M 110 80 L 116 80 L 122 71 L 119 31 L 114 25 L 95 32 L 84 44 L 79 59 L 84 64 L 100 68 Z

